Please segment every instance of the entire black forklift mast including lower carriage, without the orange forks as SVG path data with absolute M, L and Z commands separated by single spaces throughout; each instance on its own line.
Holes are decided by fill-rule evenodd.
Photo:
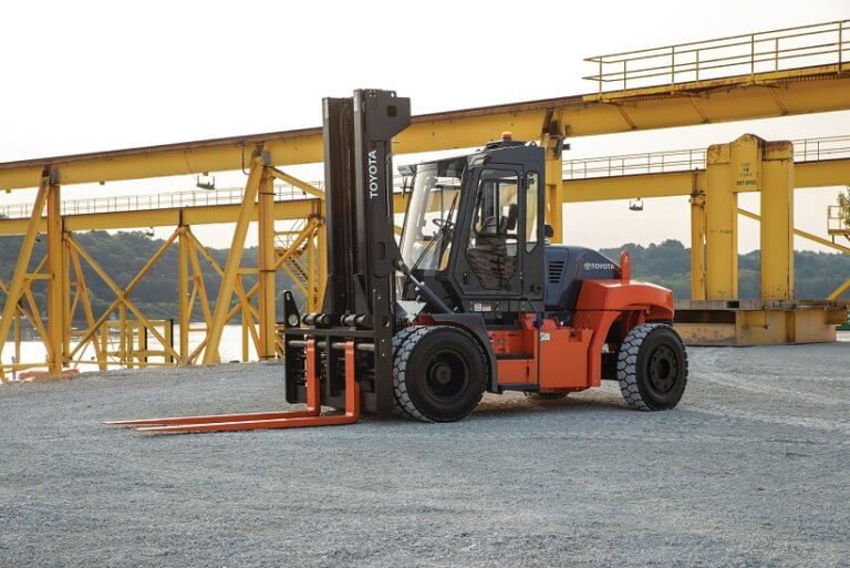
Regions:
M 392 138 L 411 123 L 411 100 L 392 91 L 357 90 L 352 97 L 324 99 L 323 114 L 328 287 L 322 311 L 305 314 L 300 323 L 313 328 L 311 337 L 325 338 L 322 404 L 344 406 L 343 362 L 331 347 L 355 338 L 359 349 L 372 350 L 359 353 L 364 406 L 390 415 L 393 280 L 401 262 L 393 219 Z M 290 321 L 292 311 L 288 302 L 288 339 L 299 337 L 298 323 Z M 287 400 L 302 402 L 302 350 L 287 345 Z

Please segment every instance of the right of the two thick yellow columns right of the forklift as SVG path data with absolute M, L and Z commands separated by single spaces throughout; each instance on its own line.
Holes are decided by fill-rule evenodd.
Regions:
M 794 299 L 794 144 L 769 142 L 761 163 L 761 299 Z

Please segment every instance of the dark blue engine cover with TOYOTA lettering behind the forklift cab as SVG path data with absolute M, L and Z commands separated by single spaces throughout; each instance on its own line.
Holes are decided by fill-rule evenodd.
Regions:
M 584 247 L 546 247 L 546 309 L 573 311 L 584 280 L 620 278 L 620 266 Z

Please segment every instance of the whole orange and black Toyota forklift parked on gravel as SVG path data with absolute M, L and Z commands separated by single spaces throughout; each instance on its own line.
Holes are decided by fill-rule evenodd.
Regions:
M 396 240 L 392 141 L 410 99 L 325 99 L 329 277 L 322 311 L 284 293 L 286 399 L 302 411 L 122 421 L 156 433 L 348 424 L 361 411 L 455 422 L 485 392 L 557 400 L 618 381 L 628 406 L 673 409 L 687 354 L 673 293 L 594 250 L 551 245 L 545 151 L 509 133 L 405 166 Z M 335 412 L 322 414 L 322 407 Z

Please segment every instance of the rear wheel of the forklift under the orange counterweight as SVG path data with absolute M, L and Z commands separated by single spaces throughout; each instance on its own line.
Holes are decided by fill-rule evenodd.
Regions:
M 620 345 L 616 378 L 626 404 L 640 411 L 673 409 L 687 383 L 687 352 L 664 323 L 632 328 Z

